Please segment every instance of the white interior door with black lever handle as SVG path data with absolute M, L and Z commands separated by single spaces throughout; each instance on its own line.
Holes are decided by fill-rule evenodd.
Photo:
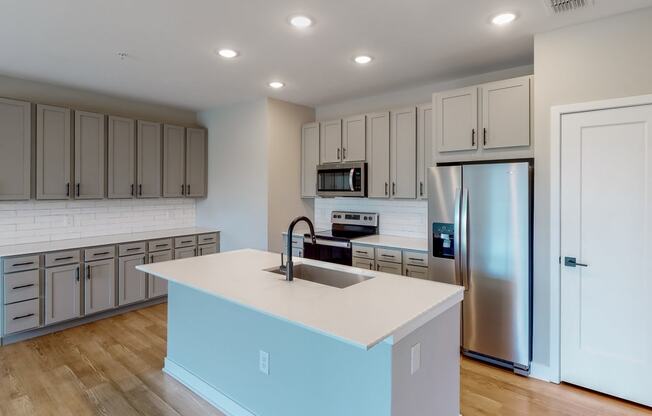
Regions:
M 652 106 L 563 116 L 561 159 L 561 379 L 652 405 Z

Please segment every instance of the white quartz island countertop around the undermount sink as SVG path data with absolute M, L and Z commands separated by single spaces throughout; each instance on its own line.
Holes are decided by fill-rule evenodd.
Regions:
M 298 263 L 375 276 L 338 289 L 264 271 L 278 254 L 237 250 L 137 269 L 268 314 L 360 348 L 405 335 L 462 301 L 460 286 L 308 259 Z M 174 311 L 171 311 L 174 313 Z

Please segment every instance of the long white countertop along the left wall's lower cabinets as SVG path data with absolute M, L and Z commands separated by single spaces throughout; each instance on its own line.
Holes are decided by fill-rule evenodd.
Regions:
M 68 240 L 45 241 L 39 243 L 0 246 L 0 257 L 22 256 L 25 254 L 47 253 L 82 247 L 96 247 L 109 244 L 130 243 L 134 241 L 155 240 L 158 238 L 180 237 L 192 234 L 216 233 L 213 228 L 189 227 L 170 230 L 145 231 L 130 234 L 114 234 L 99 237 L 72 238 Z

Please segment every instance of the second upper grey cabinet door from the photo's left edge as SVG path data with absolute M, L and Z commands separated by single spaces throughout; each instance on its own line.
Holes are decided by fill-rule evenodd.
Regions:
M 71 196 L 70 110 L 36 106 L 36 198 Z

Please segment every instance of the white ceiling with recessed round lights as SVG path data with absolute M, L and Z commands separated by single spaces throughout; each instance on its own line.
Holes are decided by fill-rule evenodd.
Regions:
M 193 110 L 264 96 L 317 106 L 529 64 L 534 33 L 652 6 L 595 0 L 560 16 L 546 1 L 0 0 L 0 73 Z M 492 26 L 505 10 L 519 19 Z M 291 27 L 294 13 L 315 26 Z M 358 53 L 376 59 L 360 67 Z

